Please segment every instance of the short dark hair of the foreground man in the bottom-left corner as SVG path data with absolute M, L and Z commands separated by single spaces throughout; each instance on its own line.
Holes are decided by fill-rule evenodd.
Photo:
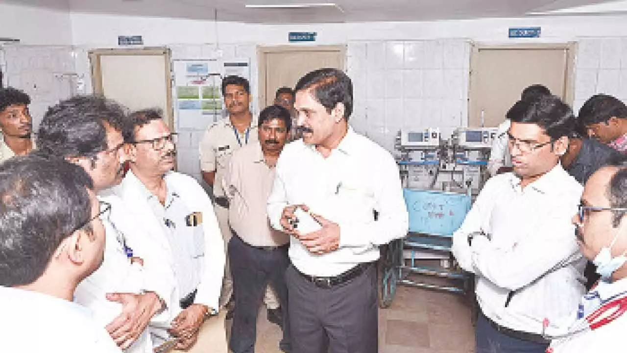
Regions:
M 0 285 L 28 285 L 61 241 L 88 225 L 92 179 L 63 158 L 16 156 L 0 164 Z

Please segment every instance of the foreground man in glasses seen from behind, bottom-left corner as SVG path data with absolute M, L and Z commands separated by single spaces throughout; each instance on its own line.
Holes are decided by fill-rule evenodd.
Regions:
M 120 353 L 76 285 L 102 263 L 105 229 L 92 180 L 63 160 L 0 165 L 0 332 L 3 352 Z M 71 335 L 71 340 L 68 340 Z

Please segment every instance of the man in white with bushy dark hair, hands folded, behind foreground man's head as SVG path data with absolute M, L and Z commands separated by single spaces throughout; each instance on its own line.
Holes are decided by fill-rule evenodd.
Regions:
M 148 353 L 152 343 L 145 328 L 166 309 L 172 286 L 163 280 L 169 269 L 159 249 L 142 242 L 147 234 L 135 224 L 137 217 L 108 190 L 123 177 L 125 119 L 125 109 L 111 100 L 88 95 L 62 100 L 46 111 L 34 153 L 81 166 L 98 198 L 112 205 L 110 217 L 103 219 L 102 266 L 78 285 L 74 298 L 106 325 L 120 348 Z

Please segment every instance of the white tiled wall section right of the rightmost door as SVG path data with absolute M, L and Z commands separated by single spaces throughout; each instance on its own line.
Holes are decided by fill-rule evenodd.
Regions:
M 582 38 L 575 67 L 575 112 L 598 93 L 627 102 L 627 38 Z

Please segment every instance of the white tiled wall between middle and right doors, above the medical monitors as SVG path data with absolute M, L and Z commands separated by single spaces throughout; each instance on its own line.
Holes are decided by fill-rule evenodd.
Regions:
M 465 40 L 350 42 L 350 124 L 389 151 L 401 128 L 435 127 L 449 136 L 467 125 L 469 67 Z

